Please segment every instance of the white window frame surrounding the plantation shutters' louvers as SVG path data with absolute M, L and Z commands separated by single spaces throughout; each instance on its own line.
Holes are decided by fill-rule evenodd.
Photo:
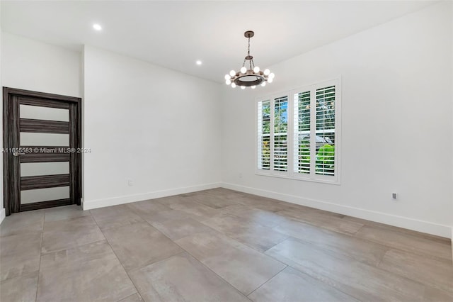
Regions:
M 313 132 L 316 133 L 316 89 L 325 88 L 327 86 L 335 86 L 335 155 L 334 155 L 334 167 L 335 174 L 333 176 L 316 174 L 316 147 L 310 148 L 310 173 L 302 174 L 297 172 L 295 168 L 297 165 L 296 155 L 298 154 L 298 133 L 296 130 L 297 124 L 294 121 L 294 112 L 298 111 L 298 108 L 295 106 L 296 96 L 299 93 L 305 91 L 310 91 L 310 134 Z M 274 166 L 274 108 L 275 108 L 275 99 L 282 96 L 287 96 L 287 171 L 280 172 L 273 170 Z M 258 168 L 258 143 L 260 143 L 260 135 L 258 135 L 258 104 L 261 101 L 270 101 L 270 167 L 269 169 L 260 169 Z M 316 146 L 316 135 L 310 135 L 310 146 Z M 260 96 L 256 98 L 255 101 L 255 174 L 260 176 L 270 176 L 270 177 L 282 177 L 287 179 L 296 179 L 302 181 L 314 181 L 321 182 L 323 184 L 340 184 L 340 174 L 341 174 L 341 80 L 340 77 L 336 77 L 331 80 L 316 82 L 314 84 L 309 84 L 301 86 L 297 89 L 291 89 L 287 91 L 281 91 L 280 93 L 271 94 L 267 96 Z

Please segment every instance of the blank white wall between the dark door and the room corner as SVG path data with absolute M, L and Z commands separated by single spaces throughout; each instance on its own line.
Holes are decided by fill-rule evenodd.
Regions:
M 219 86 L 86 46 L 84 208 L 218 186 Z

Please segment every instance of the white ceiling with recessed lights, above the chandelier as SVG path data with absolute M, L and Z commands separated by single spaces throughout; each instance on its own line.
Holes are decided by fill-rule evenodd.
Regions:
M 256 65 L 269 67 L 435 2 L 1 1 L 1 29 L 76 50 L 93 45 L 222 83 L 246 56 L 245 30 L 255 31 Z

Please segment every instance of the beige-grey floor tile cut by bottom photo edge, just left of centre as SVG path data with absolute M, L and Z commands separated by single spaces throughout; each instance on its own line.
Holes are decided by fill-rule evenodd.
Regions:
M 185 252 L 130 276 L 145 301 L 249 301 Z

